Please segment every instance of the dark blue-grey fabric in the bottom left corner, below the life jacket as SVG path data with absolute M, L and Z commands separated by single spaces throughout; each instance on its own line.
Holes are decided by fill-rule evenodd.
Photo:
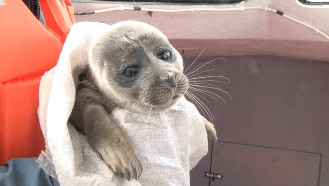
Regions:
M 15 158 L 0 166 L 0 185 L 59 186 L 59 183 L 46 174 L 36 158 Z

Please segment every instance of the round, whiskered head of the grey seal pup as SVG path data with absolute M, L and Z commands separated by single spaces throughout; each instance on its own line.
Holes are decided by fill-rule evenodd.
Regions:
M 146 23 L 112 25 L 92 43 L 89 54 L 103 94 L 127 110 L 163 111 L 187 91 L 182 57 L 165 35 Z

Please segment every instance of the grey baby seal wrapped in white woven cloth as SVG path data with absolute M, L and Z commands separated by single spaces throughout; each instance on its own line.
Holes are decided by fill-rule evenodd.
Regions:
M 165 111 L 188 86 L 183 59 L 165 35 L 146 23 L 120 22 L 91 44 L 69 121 L 114 173 L 138 179 L 141 162 L 109 113 L 117 107 L 143 114 L 154 108 Z M 217 140 L 213 124 L 204 121 L 208 134 Z

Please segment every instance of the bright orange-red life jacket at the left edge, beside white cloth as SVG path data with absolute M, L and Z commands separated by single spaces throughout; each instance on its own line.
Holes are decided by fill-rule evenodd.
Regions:
M 37 117 L 40 77 L 56 65 L 74 22 L 69 1 L 40 0 L 47 26 L 22 1 L 5 3 L 0 6 L 0 165 L 45 149 Z

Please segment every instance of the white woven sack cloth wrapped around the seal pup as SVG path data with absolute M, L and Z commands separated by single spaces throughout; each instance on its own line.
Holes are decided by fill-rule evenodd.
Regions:
M 110 25 L 74 24 L 57 65 L 42 77 L 38 116 L 46 152 L 37 160 L 65 185 L 189 185 L 189 170 L 208 152 L 207 132 L 193 104 L 182 98 L 169 111 L 156 115 L 115 109 L 111 115 L 129 136 L 142 165 L 138 181 L 117 177 L 69 122 L 78 74 L 88 64 L 93 38 Z

